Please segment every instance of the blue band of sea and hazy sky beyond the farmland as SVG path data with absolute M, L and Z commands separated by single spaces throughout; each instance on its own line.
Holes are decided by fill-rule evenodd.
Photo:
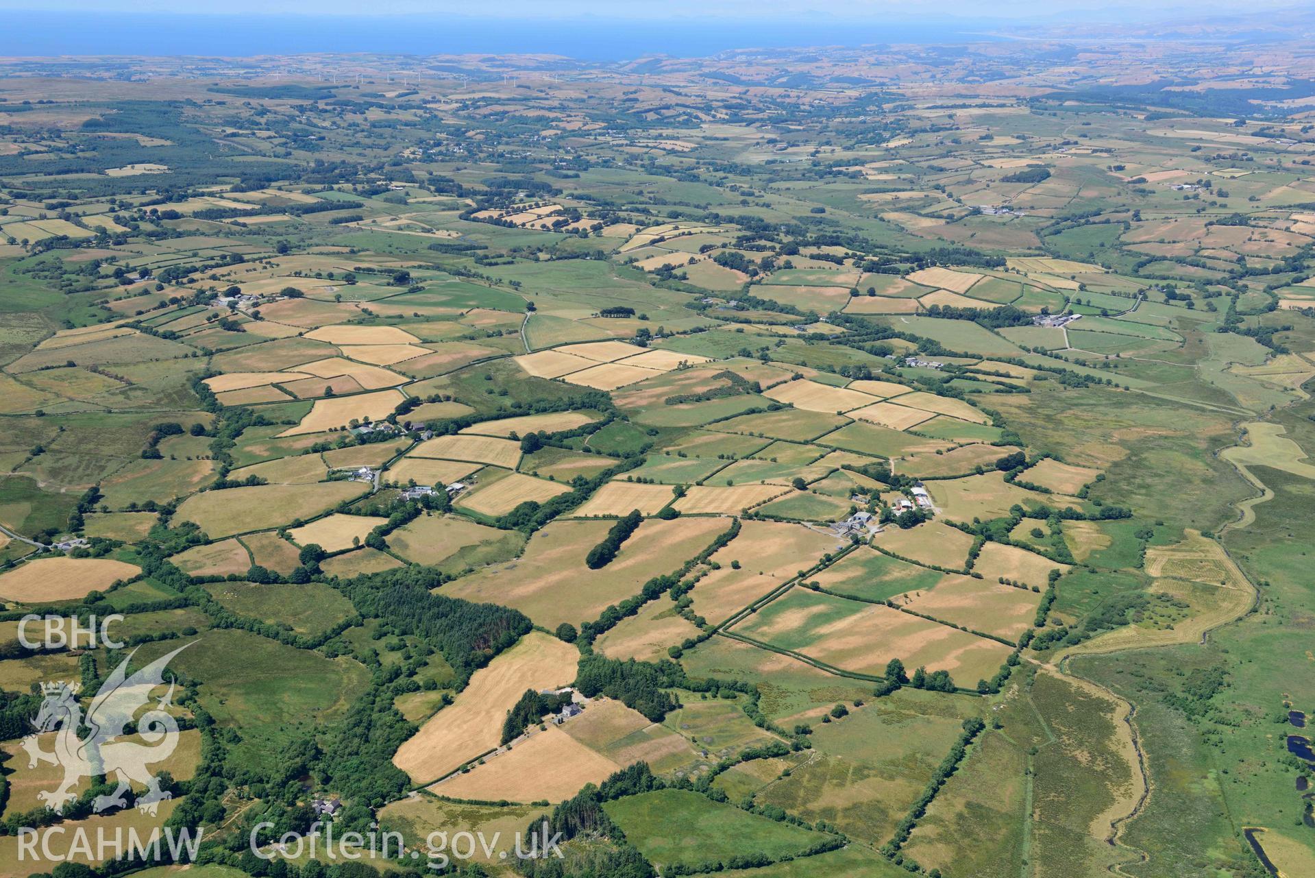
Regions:
M 30 0 L 0 0 L 8 9 L 0 54 L 41 58 L 58 55 L 266 55 L 309 53 L 373 53 L 434 55 L 464 53 L 558 54 L 585 62 L 613 62 L 644 55 L 704 57 L 750 47 L 861 46 L 882 43 L 964 43 L 1032 35 L 1030 29 L 1082 25 L 1170 25 L 1181 4 L 1093 7 L 1086 0 L 1056 4 L 1005 0 L 984 14 L 967 3 L 861 1 L 814 9 L 786 3 L 769 13 L 748 14 L 742 0 L 713 4 L 677 1 L 661 9 L 634 9 L 585 0 L 551 7 L 504 3 L 492 9 L 471 4 L 431 5 L 384 0 L 371 14 L 331 1 L 251 0 L 195 3 L 187 12 L 159 0 L 125 4 L 110 0 L 55 0 L 32 9 Z M 1201 21 L 1210 14 L 1256 13 L 1291 8 L 1258 0 L 1191 7 Z M 602 11 L 601 13 L 598 11 Z

